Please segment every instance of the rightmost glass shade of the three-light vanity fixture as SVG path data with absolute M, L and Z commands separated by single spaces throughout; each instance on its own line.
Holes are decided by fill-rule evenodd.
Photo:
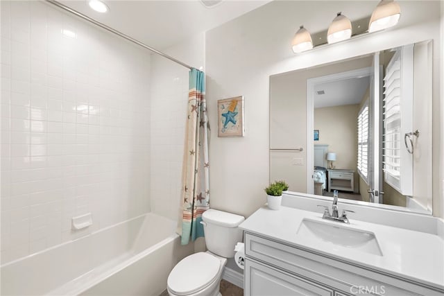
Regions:
M 370 24 L 368 24 L 368 32 L 376 32 L 390 28 L 398 24 L 401 16 L 401 8 L 398 3 L 393 0 L 382 0 L 373 10 Z

